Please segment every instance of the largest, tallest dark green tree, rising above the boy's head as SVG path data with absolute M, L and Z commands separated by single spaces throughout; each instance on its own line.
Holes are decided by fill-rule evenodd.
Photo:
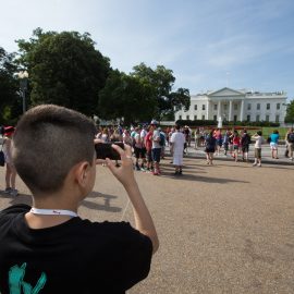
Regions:
M 17 44 L 19 63 L 29 72 L 33 106 L 56 103 L 88 115 L 96 112 L 110 65 L 89 34 L 37 28 L 28 41 Z

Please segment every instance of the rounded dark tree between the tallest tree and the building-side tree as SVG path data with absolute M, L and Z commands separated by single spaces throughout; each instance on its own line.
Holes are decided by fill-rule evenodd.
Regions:
M 157 100 L 152 87 L 134 76 L 113 71 L 99 93 L 100 119 L 122 119 L 125 124 L 149 121 L 155 114 Z

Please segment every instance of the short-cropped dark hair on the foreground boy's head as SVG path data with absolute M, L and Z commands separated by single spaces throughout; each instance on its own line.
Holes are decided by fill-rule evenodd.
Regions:
M 42 105 L 20 120 L 12 158 L 33 194 L 59 191 L 70 170 L 94 159 L 96 128 L 84 114 L 64 107 Z

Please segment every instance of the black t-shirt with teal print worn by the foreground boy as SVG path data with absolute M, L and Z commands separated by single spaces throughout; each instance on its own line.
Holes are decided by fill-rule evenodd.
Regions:
M 0 212 L 0 293 L 125 293 L 148 275 L 152 244 L 127 222 L 81 218 L 29 229 L 26 205 Z

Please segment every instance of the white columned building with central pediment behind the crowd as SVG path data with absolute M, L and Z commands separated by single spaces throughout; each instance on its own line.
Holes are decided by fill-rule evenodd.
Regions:
M 177 120 L 268 121 L 284 123 L 286 113 L 284 91 L 259 93 L 222 88 L 191 96 L 191 106 L 175 113 Z

